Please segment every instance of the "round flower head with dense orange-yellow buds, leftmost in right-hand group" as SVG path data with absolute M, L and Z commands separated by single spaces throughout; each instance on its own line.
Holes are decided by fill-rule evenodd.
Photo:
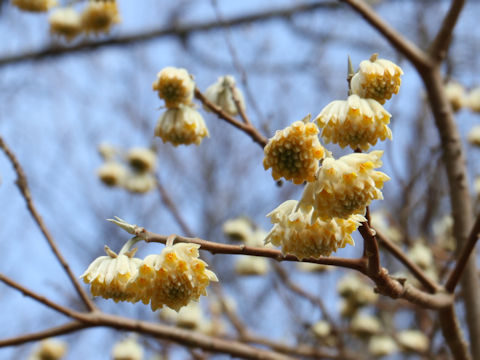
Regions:
M 325 149 L 318 140 L 318 128 L 309 122 L 310 115 L 303 121 L 295 121 L 275 136 L 265 146 L 263 167 L 272 168 L 275 180 L 284 177 L 294 184 L 314 181 L 318 162 L 325 156 Z

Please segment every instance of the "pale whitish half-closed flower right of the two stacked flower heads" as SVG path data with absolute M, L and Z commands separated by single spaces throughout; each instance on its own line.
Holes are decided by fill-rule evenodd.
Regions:
M 238 101 L 240 108 L 245 111 L 245 100 L 243 99 L 243 94 L 235 86 L 235 79 L 231 75 L 219 77 L 217 82 L 213 85 L 210 85 L 205 91 L 205 97 L 208 100 L 232 116 L 238 114 L 234 96 Z M 206 111 L 211 111 L 207 106 L 204 106 L 204 109 Z

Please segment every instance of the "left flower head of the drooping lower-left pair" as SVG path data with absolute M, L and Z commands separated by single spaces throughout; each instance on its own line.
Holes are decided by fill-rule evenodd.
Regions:
M 137 249 L 125 250 L 128 249 L 124 247 L 117 255 L 105 245 L 108 256 L 96 258 L 80 276 L 86 284 L 90 284 L 93 296 L 113 299 L 115 302 L 135 302 L 135 294 L 129 292 L 127 285 L 137 276 L 142 260 L 133 257 Z

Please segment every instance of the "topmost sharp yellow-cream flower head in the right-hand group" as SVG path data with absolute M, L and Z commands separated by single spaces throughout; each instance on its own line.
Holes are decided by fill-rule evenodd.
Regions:
M 360 63 L 360 68 L 351 80 L 352 93 L 368 99 L 375 99 L 380 104 L 385 104 L 393 94 L 400 89 L 403 75 L 402 69 L 393 62 L 378 59 L 378 54 L 373 54 L 370 60 Z

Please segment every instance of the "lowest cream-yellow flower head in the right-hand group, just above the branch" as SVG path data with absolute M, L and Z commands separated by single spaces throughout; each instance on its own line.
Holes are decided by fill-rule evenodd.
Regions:
M 298 201 L 287 200 L 267 216 L 271 218 L 272 230 L 265 243 L 282 247 L 283 254 L 295 255 L 298 259 L 329 256 L 347 244 L 354 245 L 351 233 L 366 221 L 361 215 L 347 219 L 316 219 L 311 221 L 311 212 L 297 209 Z

